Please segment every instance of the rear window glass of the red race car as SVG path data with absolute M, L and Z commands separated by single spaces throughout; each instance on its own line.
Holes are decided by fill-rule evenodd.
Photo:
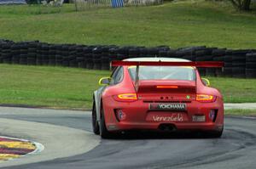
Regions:
M 132 80 L 135 80 L 136 66 L 130 66 L 128 70 Z M 139 79 L 195 81 L 195 70 L 189 66 L 140 66 Z

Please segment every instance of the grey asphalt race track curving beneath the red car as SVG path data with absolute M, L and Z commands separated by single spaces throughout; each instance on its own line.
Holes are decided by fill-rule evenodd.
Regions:
M 90 112 L 0 108 L 0 118 L 9 119 L 10 121 L 15 119 L 18 123 L 32 121 L 32 123 L 28 122 L 29 125 L 34 125 L 32 128 L 36 128 L 37 125 L 38 127 L 43 125 L 40 130 L 42 132 L 44 132 L 43 130 L 51 132 L 49 139 L 55 138 L 55 146 L 65 143 L 58 137 L 61 134 L 59 130 L 64 132 L 64 135 L 66 134 L 65 131 L 69 131 L 68 134 L 72 134 L 72 131 L 80 135 L 87 134 L 84 137 L 84 143 L 87 144 L 93 142 L 96 145 L 100 140 L 99 137 L 86 132 L 91 131 Z M 4 119 L 2 120 L 4 121 Z M 13 121 L 13 125 L 15 125 L 15 121 Z M 1 119 L 0 124 L 2 124 Z M 68 155 L 66 152 L 66 157 L 55 156 L 52 158 L 54 160 L 47 159 L 44 156 L 46 158 L 45 161 L 30 161 L 30 164 L 19 166 L 6 165 L 3 168 L 255 168 L 256 119 L 225 117 L 224 125 L 224 135 L 222 138 L 193 137 L 189 136 L 188 133 L 173 137 L 160 136 L 159 134 L 131 134 L 119 139 L 102 140 L 100 144 L 87 153 L 81 153 L 83 150 L 80 150 L 81 148 L 75 145 L 76 140 L 81 139 L 77 134 L 68 137 L 68 140 L 66 140 L 69 144 L 73 142 L 73 146 L 67 146 L 68 151 L 73 152 L 71 155 Z M 52 128 L 49 129 L 49 126 Z M 59 129 L 57 132 L 52 131 L 56 129 L 55 127 Z M 63 128 L 61 129 L 61 127 Z M 3 131 L 11 132 L 11 129 L 7 131 L 6 128 L 3 130 L 1 127 L 0 134 Z M 34 129 L 33 132 L 35 131 Z M 21 129 L 19 132 L 11 132 L 10 134 L 19 134 L 22 138 L 31 137 L 28 133 L 24 135 Z M 34 134 L 32 138 L 35 139 L 34 141 L 38 141 L 37 139 L 39 138 L 37 137 L 40 135 L 41 133 L 38 133 L 38 135 Z M 88 142 L 87 139 L 90 141 Z M 43 144 L 45 149 L 47 149 L 47 140 L 44 141 L 46 145 Z M 77 142 L 77 144 L 84 144 L 79 141 Z M 93 145 L 91 146 L 93 147 Z M 55 150 L 52 148 L 52 152 L 55 152 L 55 155 L 58 155 L 60 150 L 59 147 Z M 85 151 L 88 151 L 88 149 L 84 149 Z M 44 151 L 42 154 L 44 154 Z M 34 158 L 39 157 L 39 155 L 34 156 Z M 27 158 L 29 159 L 30 157 Z M 49 158 L 51 157 L 49 156 Z M 0 164 L 0 166 L 3 164 Z M 18 164 L 16 163 L 16 165 Z

